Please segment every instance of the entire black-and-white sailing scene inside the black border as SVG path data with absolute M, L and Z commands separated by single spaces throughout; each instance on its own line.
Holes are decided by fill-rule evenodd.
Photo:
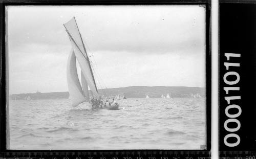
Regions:
M 205 5 L 7 6 L 9 150 L 205 150 Z

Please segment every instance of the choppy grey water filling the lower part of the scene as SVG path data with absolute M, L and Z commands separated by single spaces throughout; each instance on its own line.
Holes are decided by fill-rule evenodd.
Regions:
M 200 149 L 205 98 L 126 99 L 93 110 L 68 99 L 10 101 L 10 149 Z

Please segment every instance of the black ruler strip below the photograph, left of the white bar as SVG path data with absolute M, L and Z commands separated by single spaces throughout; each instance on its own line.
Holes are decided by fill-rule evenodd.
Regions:
M 3 152 L 0 159 L 207 159 L 209 151 L 44 151 Z

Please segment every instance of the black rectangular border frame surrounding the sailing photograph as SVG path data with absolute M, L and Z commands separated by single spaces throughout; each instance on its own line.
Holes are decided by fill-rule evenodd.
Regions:
M 3 0 L 0 2 L 0 152 L 76 152 L 77 150 L 7 150 L 6 148 L 6 37 L 5 37 L 5 7 L 8 5 L 205 5 L 206 6 L 206 150 L 147 150 L 147 151 L 175 151 L 175 152 L 209 152 L 211 149 L 211 24 L 210 3 L 211 0 L 103 0 L 103 1 L 79 1 L 79 0 Z M 79 150 L 87 152 L 129 152 L 145 150 Z

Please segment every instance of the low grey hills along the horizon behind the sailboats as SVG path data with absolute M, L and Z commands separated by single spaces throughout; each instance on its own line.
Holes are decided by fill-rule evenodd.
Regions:
M 205 97 L 206 89 L 202 87 L 183 87 L 183 86 L 130 86 L 120 88 L 99 89 L 99 94 L 106 94 L 114 97 L 117 94 L 125 95 L 126 98 L 145 98 L 147 94 L 150 98 L 160 98 L 161 95 L 169 94 L 174 98 L 193 97 L 198 94 Z M 91 91 L 89 91 L 92 94 Z M 24 100 L 30 97 L 31 99 L 68 99 L 69 92 L 51 92 L 51 93 L 28 93 L 10 95 L 12 100 Z

